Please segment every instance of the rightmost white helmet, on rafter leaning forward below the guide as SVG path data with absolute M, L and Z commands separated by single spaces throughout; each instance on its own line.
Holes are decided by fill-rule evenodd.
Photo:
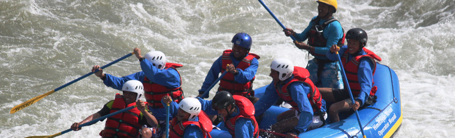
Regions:
M 292 64 L 292 61 L 283 58 L 273 60 L 270 68 L 278 71 L 279 80 L 285 80 L 289 78 L 292 75 L 292 72 L 294 72 L 294 64 Z

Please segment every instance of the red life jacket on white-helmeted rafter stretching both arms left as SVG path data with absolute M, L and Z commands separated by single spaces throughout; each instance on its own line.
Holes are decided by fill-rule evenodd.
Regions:
M 164 69 L 174 69 L 183 67 L 183 65 L 175 64 L 175 63 L 166 63 Z M 180 76 L 180 72 L 177 71 Z M 164 96 L 169 95 L 171 96 L 174 102 L 180 103 L 183 99 L 183 90 L 182 90 L 182 77 L 180 77 L 180 87 L 178 88 L 169 88 L 157 83 L 150 81 L 147 76 L 144 77 L 144 82 L 142 82 L 144 86 L 144 96 L 145 100 L 147 101 L 148 105 L 152 108 L 164 108 L 163 104 L 161 104 L 161 99 Z

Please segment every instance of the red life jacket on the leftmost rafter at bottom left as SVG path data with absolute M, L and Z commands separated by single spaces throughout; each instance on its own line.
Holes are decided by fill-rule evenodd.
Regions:
M 136 105 L 136 102 L 126 105 L 123 95 L 117 93 L 109 113 L 134 105 Z M 139 117 L 141 117 L 141 114 L 137 108 L 108 117 L 104 130 L 99 133 L 99 136 L 103 138 L 138 138 L 139 129 L 141 128 Z

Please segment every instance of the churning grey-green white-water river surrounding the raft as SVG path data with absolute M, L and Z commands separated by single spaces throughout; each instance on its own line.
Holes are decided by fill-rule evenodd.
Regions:
M 287 28 L 301 32 L 315 0 L 265 0 Z M 367 48 L 400 79 L 403 124 L 397 138 L 455 137 L 455 1 L 338 0 L 343 28 L 363 28 Z M 185 96 L 196 96 L 212 63 L 238 32 L 261 56 L 254 88 L 271 82 L 275 58 L 305 67 L 297 49 L 256 0 L 0 0 L 0 138 L 52 135 L 70 128 L 119 92 L 94 75 L 14 114 L 9 110 L 106 65 L 135 47 L 184 65 Z M 134 56 L 105 73 L 140 70 Z M 215 93 L 211 91 L 211 96 Z M 210 97 L 211 99 L 211 97 Z M 99 122 L 61 138 L 96 138 Z

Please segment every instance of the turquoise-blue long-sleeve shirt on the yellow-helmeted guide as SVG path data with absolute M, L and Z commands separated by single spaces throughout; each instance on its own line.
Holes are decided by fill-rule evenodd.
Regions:
M 316 17 L 318 17 L 318 16 L 313 17 L 313 19 L 315 19 Z M 327 21 L 327 20 L 320 19 L 318 25 L 322 25 L 322 23 L 324 23 L 325 21 Z M 300 33 L 300 34 L 296 33 L 295 39 L 300 42 L 305 41 L 308 38 L 307 34 L 308 34 L 308 32 L 310 32 L 311 27 L 313 27 L 313 24 L 314 24 L 314 22 L 310 22 L 308 27 L 302 33 Z M 322 32 L 323 32 L 322 34 L 323 34 L 324 38 L 327 40 L 327 44 L 325 45 L 325 47 L 315 47 L 315 53 L 319 54 L 319 55 L 325 55 L 325 52 L 330 51 L 330 47 L 334 44 L 337 44 L 338 40 L 343 37 L 343 29 L 341 28 L 340 22 L 332 22 L 332 23 L 328 24 L 322 30 Z M 327 59 L 327 57 L 325 57 L 325 56 L 315 56 L 315 55 L 313 55 L 313 56 L 316 59 L 322 59 L 322 60 Z

